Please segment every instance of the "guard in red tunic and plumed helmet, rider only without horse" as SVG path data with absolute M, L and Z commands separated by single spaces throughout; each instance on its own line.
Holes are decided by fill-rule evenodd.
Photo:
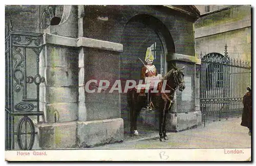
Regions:
M 143 66 L 141 67 L 141 79 L 143 80 L 143 84 L 146 84 L 150 87 L 150 90 L 154 89 L 154 86 L 158 84 L 158 82 L 161 81 L 162 75 L 157 74 L 156 66 L 153 65 L 154 62 L 154 56 L 151 51 L 151 47 L 148 47 L 146 50 L 146 56 L 145 56 L 145 63 L 141 61 Z M 147 112 L 151 112 L 153 110 L 152 102 L 151 102 L 151 94 L 150 92 L 147 93 L 147 91 L 143 91 L 140 93 L 141 96 L 147 97 L 147 105 L 146 110 Z

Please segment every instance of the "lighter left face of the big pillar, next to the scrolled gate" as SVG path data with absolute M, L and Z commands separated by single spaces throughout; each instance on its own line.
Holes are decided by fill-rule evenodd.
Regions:
M 39 70 L 46 82 L 40 86 L 39 102 L 46 123 L 38 125 L 42 149 L 77 145 L 78 50 L 74 39 L 77 24 L 77 7 L 64 6 L 60 24 L 50 25 L 43 36 Z

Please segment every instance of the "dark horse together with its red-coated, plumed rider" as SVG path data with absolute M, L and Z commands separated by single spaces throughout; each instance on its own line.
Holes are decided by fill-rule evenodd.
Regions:
M 164 142 L 168 140 L 166 135 L 166 120 L 169 109 L 174 103 L 174 93 L 177 89 L 181 92 L 185 89 L 183 80 L 185 66 L 182 68 L 173 66 L 173 69 L 162 77 L 160 74 L 157 74 L 156 67 L 152 65 L 154 57 L 150 48 L 147 48 L 145 57 L 147 65 L 141 59 L 139 60 L 143 64 L 141 76 L 145 79 L 142 82 L 143 84 L 140 81 L 139 85 L 127 92 L 127 102 L 130 107 L 130 134 L 131 136 L 139 134 L 137 131 L 137 118 L 141 109 L 145 106 L 144 96 L 145 92 L 148 91 L 147 96 L 150 97 L 147 97 L 147 104 L 148 107 L 152 104 L 154 109 L 159 112 L 159 140 Z

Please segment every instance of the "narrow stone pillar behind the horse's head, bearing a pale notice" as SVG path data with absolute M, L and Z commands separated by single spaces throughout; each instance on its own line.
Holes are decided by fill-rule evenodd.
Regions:
M 172 64 L 184 69 L 184 82 L 186 88 L 183 92 L 175 93 L 175 103 L 172 107 L 166 128 L 169 131 L 181 131 L 201 125 L 201 112 L 199 105 L 199 70 L 201 61 L 193 56 L 173 53 L 168 61 L 168 71 Z M 200 66 L 199 66 L 200 67 Z

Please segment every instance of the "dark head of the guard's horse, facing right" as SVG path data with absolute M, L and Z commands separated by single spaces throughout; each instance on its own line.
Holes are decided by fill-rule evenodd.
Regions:
M 174 66 L 172 70 L 170 70 L 165 76 L 164 79 L 166 79 L 168 82 L 170 82 L 170 86 L 172 86 L 173 89 L 176 89 L 179 87 L 179 91 L 183 91 L 185 89 L 184 84 L 184 70 L 185 66 L 182 68 L 177 68 Z

